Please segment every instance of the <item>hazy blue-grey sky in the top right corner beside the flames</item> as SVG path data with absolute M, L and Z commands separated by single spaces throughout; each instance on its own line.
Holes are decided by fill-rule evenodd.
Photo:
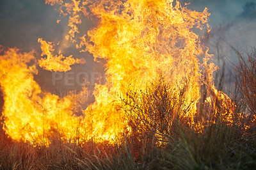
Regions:
M 218 36 L 229 45 L 244 50 L 256 46 L 256 0 L 191 0 L 189 6 L 196 11 L 206 6 L 212 31 L 222 27 Z

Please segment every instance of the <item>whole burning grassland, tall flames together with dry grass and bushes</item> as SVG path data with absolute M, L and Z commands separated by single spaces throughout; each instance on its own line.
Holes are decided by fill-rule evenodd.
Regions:
M 206 8 L 195 12 L 172 0 L 45 3 L 69 15 L 67 40 L 95 61 L 105 59 L 106 83 L 95 84 L 95 101 L 81 109 L 86 87 L 61 98 L 42 91 L 34 75 L 38 63 L 66 72 L 83 59 L 56 55 L 54 43 L 42 39 L 41 59 L 1 47 L 2 169 L 255 166 L 255 50 L 249 64 L 239 56 L 246 102 L 234 102 L 214 86 L 218 67 L 194 32 L 210 31 Z M 97 27 L 80 35 L 81 18 L 92 16 Z

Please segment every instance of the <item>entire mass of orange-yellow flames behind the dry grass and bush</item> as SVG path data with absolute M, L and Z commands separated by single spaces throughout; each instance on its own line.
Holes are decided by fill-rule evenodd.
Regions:
M 71 0 L 69 3 L 45 0 L 45 3 L 59 4 L 60 14 L 69 15 L 67 40 L 76 43 L 80 51 L 93 54 L 95 61 L 106 60 L 106 84 L 95 84 L 95 102 L 83 111 L 83 116 L 76 116 L 86 88 L 79 95 L 60 98 L 42 91 L 33 74 L 37 73 L 37 64 L 45 70 L 67 72 L 70 65 L 84 63 L 84 59 L 54 56 L 53 43 L 42 38 L 38 42 L 42 56 L 47 58 L 36 59 L 35 52 L 22 53 L 18 49 L 2 52 L 0 84 L 4 93 L 4 130 L 12 139 L 33 144 L 49 144 L 51 137 L 111 141 L 119 133 L 129 131 L 124 112 L 116 107 L 116 98 L 125 96 L 129 84 L 134 89 L 145 89 L 147 82 L 154 80 L 159 72 L 170 80 L 174 91 L 179 91 L 186 82 L 184 105 L 189 107 L 186 117 L 191 125 L 195 124 L 202 83 L 211 91 L 207 103 L 215 107 L 212 101 L 219 98 L 223 107 L 232 105 L 227 95 L 214 87 L 212 72 L 216 66 L 208 64 L 211 56 L 204 51 L 195 33 L 209 29 L 207 8 L 204 12 L 195 12 L 179 2 L 173 6 L 172 0 Z M 97 17 L 99 23 L 81 35 L 79 24 L 83 17 L 90 16 Z M 200 64 L 198 58 L 203 54 L 204 63 Z M 207 70 L 204 81 L 203 68 Z M 227 118 L 231 112 L 227 111 Z

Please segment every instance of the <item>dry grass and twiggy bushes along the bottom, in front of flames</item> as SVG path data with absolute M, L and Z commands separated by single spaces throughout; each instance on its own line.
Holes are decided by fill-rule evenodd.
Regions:
M 12 141 L 1 128 L 0 168 L 253 169 L 256 166 L 256 121 L 253 121 L 256 52 L 252 49 L 248 53 L 248 61 L 240 53 L 238 56 L 237 90 L 242 100 L 234 100 L 237 109 L 231 124 L 220 117 L 225 111 L 220 101 L 214 101 L 218 108 L 213 112 L 202 100 L 195 120 L 213 115 L 208 118 L 214 121 L 208 121 L 211 123 L 207 123 L 202 133 L 196 132 L 184 116 L 189 106 L 184 104 L 184 93 L 188 90 L 186 82 L 176 93 L 160 75 L 144 91 L 129 87 L 127 96 L 120 99 L 132 133 L 124 134 L 118 143 L 73 141 L 74 144 L 52 137 L 49 147 L 33 147 Z M 202 93 L 207 94 L 207 89 Z M 240 107 L 247 108 L 248 116 L 241 116 L 243 109 Z M 246 128 L 248 125 L 251 127 Z

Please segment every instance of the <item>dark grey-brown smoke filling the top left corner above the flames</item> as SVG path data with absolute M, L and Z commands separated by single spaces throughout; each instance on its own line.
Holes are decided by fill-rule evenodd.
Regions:
M 39 50 L 38 37 L 54 41 L 63 35 L 63 26 L 56 23 L 58 12 L 44 1 L 3 0 L 0 10 L 1 45 Z

